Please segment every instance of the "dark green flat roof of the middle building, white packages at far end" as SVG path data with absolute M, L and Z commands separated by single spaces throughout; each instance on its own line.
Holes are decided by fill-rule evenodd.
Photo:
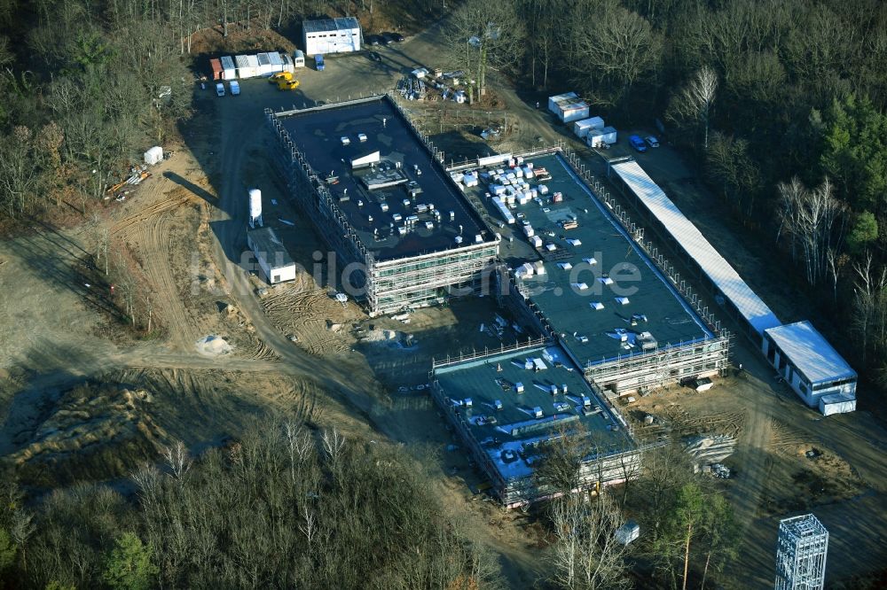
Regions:
M 713 337 L 608 209 L 569 171 L 561 156 L 529 161 L 536 170 L 545 168 L 551 179 L 531 178 L 527 182 L 533 188 L 545 185 L 548 192 L 538 200 L 509 208 L 517 219 L 499 229 L 504 238 L 499 255 L 511 268 L 542 261 L 544 275 L 534 272 L 518 282 L 527 288 L 530 300 L 553 330 L 566 335 L 563 345 L 577 361 L 597 363 L 642 353 L 636 342 L 642 332 L 649 332 L 660 348 Z M 507 169 L 504 165 L 494 168 Z M 481 184 L 473 190 L 485 201 L 493 219 L 504 221 L 491 198 L 485 197 L 490 191 L 488 183 L 494 183 L 488 172 L 483 171 Z M 554 202 L 554 193 L 561 193 L 560 202 Z M 562 222 L 569 220 L 575 220 L 577 227 L 564 229 Z M 524 222 L 541 239 L 541 251 L 524 235 Z M 553 247 L 550 252 L 549 245 Z M 616 299 L 622 296 L 624 302 Z M 595 309 L 593 303 L 602 307 Z

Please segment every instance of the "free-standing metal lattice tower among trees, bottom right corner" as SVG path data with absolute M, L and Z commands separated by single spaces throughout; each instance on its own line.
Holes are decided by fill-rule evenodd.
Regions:
M 812 514 L 783 518 L 776 541 L 775 590 L 825 586 L 828 531 Z

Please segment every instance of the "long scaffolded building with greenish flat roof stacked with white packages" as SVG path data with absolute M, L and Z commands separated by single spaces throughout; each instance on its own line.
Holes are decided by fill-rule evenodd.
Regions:
M 726 330 L 648 250 L 643 230 L 591 190 L 569 154 L 478 164 L 451 174 L 476 176 L 479 185 L 467 190 L 498 221 L 509 260 L 503 303 L 559 342 L 590 382 L 648 392 L 726 368 Z

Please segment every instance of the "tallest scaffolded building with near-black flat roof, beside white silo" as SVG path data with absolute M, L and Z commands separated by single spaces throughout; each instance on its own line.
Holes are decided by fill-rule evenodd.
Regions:
M 499 238 L 389 97 L 265 114 L 290 194 L 335 252 L 331 283 L 373 315 L 481 288 Z

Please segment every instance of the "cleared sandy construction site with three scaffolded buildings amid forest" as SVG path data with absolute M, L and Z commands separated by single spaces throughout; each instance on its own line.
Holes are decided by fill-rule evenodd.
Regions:
M 80 273 L 91 229 L 5 242 L 4 454 L 33 485 L 101 481 L 175 440 L 196 455 L 249 419 L 308 416 L 349 444 L 407 449 L 510 586 L 530 587 L 546 540 L 533 510 L 502 508 L 550 496 L 535 476 L 546 445 L 584 437 L 581 487 L 597 490 L 673 444 L 745 524 L 725 587 L 773 584 L 789 567 L 773 562 L 780 519 L 813 508 L 827 583 L 871 571 L 887 535 L 883 425 L 832 415 L 856 408 L 856 373 L 795 322 L 790 294 L 759 289 L 757 252 L 662 180 L 680 170 L 670 148 L 604 158 L 508 88 L 492 117 L 522 135 L 483 144 L 429 135 L 437 121 L 396 90 L 339 100 L 433 64 L 436 35 L 401 46 L 405 69 L 330 58 L 339 74 L 303 68 L 293 92 L 258 79 L 200 95 L 183 143 L 108 199 L 162 327 L 147 338 L 121 336 Z M 474 127 L 491 117 L 450 108 Z M 483 155 L 447 166 L 453 144 Z M 76 389 L 86 379 L 98 393 Z

